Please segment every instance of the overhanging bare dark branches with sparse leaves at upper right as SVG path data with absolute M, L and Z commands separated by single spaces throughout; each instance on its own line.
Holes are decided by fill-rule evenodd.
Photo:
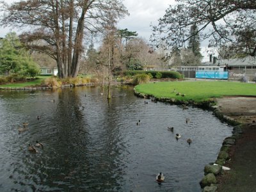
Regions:
M 198 24 L 202 40 L 211 44 L 232 42 L 237 47 L 246 40 L 246 54 L 256 55 L 256 1 L 176 0 L 153 27 L 153 42 L 164 40 L 170 47 L 182 47 L 190 38 L 189 29 Z

